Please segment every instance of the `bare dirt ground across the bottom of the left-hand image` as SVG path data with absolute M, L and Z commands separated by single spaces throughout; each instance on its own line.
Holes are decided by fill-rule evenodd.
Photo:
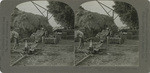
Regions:
M 15 66 L 72 66 L 74 65 L 74 41 L 61 40 L 59 44 L 39 44 L 42 49 L 37 55 L 30 55 L 22 59 Z M 24 43 L 21 43 L 17 50 L 22 50 Z M 11 64 L 19 59 L 19 53 L 11 53 Z

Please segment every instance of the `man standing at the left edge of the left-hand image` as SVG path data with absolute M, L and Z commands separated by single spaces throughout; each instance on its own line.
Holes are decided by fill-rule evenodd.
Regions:
M 10 39 L 12 39 L 14 42 L 13 49 L 16 49 L 16 47 L 19 46 L 19 34 L 15 31 L 13 27 L 11 27 Z

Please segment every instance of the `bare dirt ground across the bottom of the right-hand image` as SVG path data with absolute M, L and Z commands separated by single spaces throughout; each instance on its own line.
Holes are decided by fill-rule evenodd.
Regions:
M 87 49 L 87 45 L 83 49 Z M 85 59 L 78 66 L 138 66 L 139 51 L 138 40 L 126 40 L 124 44 L 104 44 L 106 54 L 95 54 Z M 84 53 L 76 53 L 76 63 L 86 55 Z

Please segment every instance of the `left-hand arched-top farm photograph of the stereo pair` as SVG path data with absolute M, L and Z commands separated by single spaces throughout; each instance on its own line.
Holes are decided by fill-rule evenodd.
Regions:
M 73 66 L 74 12 L 58 1 L 28 1 L 11 14 L 11 66 Z

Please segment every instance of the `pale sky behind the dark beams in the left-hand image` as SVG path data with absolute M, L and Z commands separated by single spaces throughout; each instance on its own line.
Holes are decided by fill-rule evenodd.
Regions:
M 48 2 L 47 1 L 34 1 L 35 3 L 39 4 L 40 6 L 44 7 L 47 9 L 46 6 L 48 6 Z M 38 14 L 38 15 L 42 15 L 38 9 L 33 5 L 32 2 L 25 2 L 25 3 L 21 3 L 19 5 L 17 5 L 17 8 L 19 10 L 22 10 L 22 11 L 25 11 L 25 12 L 30 12 L 30 13 L 34 13 L 34 14 Z M 41 12 L 44 12 L 45 10 L 42 9 L 41 7 L 38 7 Z M 47 16 L 47 12 L 44 12 L 44 15 Z M 51 17 L 51 14 L 49 14 L 48 17 Z M 49 23 L 52 27 L 59 27 L 60 25 L 57 24 L 54 20 L 54 17 L 52 17 L 50 20 L 49 20 Z

